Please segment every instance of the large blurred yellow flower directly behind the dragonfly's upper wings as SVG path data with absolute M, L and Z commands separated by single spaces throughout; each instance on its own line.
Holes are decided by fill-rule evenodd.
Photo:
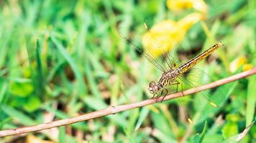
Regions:
M 162 21 L 152 26 L 150 31 L 142 36 L 142 44 L 146 51 L 158 57 L 182 41 L 191 26 L 203 18 L 202 14 L 193 13 L 178 22 Z

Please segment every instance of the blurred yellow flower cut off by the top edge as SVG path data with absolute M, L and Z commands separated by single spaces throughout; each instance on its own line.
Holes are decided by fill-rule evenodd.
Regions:
M 173 11 L 180 11 L 183 9 L 196 9 L 202 13 L 207 13 L 207 6 L 203 0 L 168 0 L 168 9 Z

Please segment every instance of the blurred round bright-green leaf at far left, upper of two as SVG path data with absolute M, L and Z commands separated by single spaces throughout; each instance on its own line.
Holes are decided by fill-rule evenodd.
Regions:
M 9 91 L 17 97 L 27 97 L 32 94 L 34 87 L 31 82 L 12 82 Z

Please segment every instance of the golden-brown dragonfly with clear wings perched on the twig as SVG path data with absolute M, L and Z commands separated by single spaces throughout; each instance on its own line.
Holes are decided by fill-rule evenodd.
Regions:
M 145 27 L 147 29 L 146 24 Z M 206 51 L 202 52 L 201 54 L 198 54 L 186 63 L 180 64 L 180 66 L 177 65 L 178 61 L 176 60 L 176 57 L 174 55 L 170 56 L 170 54 L 167 54 L 167 52 L 161 49 L 161 47 L 159 46 L 159 50 L 161 50 L 162 56 L 165 59 L 166 64 L 168 65 L 168 67 L 166 68 L 165 65 L 160 63 L 160 61 L 158 61 L 157 58 L 147 48 L 143 47 L 142 44 L 140 44 L 140 42 L 136 40 L 133 41 L 132 39 L 129 39 L 126 36 L 124 36 L 124 34 L 119 34 L 120 36 L 122 36 L 122 39 L 127 41 L 127 43 L 132 45 L 135 49 L 137 49 L 137 51 L 140 51 L 140 53 L 142 53 L 142 55 L 145 56 L 145 58 L 148 61 L 150 61 L 150 63 L 152 63 L 155 67 L 157 67 L 157 69 L 160 69 L 160 71 L 163 72 L 160 79 L 157 81 L 150 82 L 148 87 L 148 91 L 150 92 L 150 94 L 152 94 L 152 98 L 158 99 L 159 97 L 163 97 L 161 98 L 161 102 L 163 102 L 163 99 L 165 99 L 168 93 L 178 92 L 178 87 L 181 86 L 181 90 L 183 90 L 183 84 L 181 82 L 185 82 L 186 84 L 190 84 L 191 87 L 197 88 L 196 84 L 192 80 L 187 79 L 186 75 L 184 74 L 187 74 L 188 71 L 191 71 L 193 66 L 196 66 L 196 64 L 198 64 L 200 61 L 205 59 L 207 56 L 211 55 L 214 51 L 216 51 L 216 49 L 219 49 L 219 47 L 224 46 L 224 44 L 222 44 L 221 41 L 218 41 L 216 42 L 216 44 L 211 46 Z M 201 72 L 201 74 L 203 73 L 204 71 Z M 212 107 L 218 106 L 217 103 L 212 102 L 209 99 L 209 97 L 204 97 L 206 97 L 206 99 L 208 100 Z M 190 117 L 187 117 L 188 115 L 186 113 L 186 109 L 183 107 L 182 104 L 181 106 L 183 112 L 185 112 L 186 114 L 187 121 L 189 123 L 192 123 L 192 119 Z

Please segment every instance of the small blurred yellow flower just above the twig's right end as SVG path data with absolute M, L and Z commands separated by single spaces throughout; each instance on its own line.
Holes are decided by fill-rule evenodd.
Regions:
M 252 69 L 252 64 L 246 64 L 247 59 L 245 56 L 239 56 L 237 59 L 234 59 L 232 63 L 230 64 L 230 71 L 234 72 L 237 69 L 239 69 L 242 66 L 242 71 L 247 71 L 249 69 Z

